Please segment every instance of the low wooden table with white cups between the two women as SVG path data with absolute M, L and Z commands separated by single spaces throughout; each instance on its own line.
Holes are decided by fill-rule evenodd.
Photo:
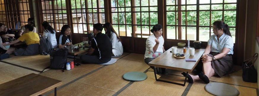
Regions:
M 176 46 L 174 46 L 174 47 L 176 47 Z M 188 72 L 192 72 L 193 69 L 196 67 L 196 65 L 200 61 L 200 57 L 204 53 L 205 49 L 195 49 L 194 56 L 190 56 L 188 48 L 186 49 L 186 52 L 184 53 L 183 47 L 177 47 L 177 53 L 184 54 L 185 58 L 175 58 L 174 57 L 175 54 L 172 54 L 170 51 L 171 51 L 171 48 L 168 49 L 166 52 L 162 53 L 160 56 L 158 56 L 154 60 L 150 61 L 148 65 L 154 66 L 155 69 L 157 67 L 160 67 L 160 68 L 166 68 L 166 69 L 186 71 L 186 74 L 188 74 Z M 194 58 L 194 59 L 196 59 L 196 61 L 185 61 L 186 58 Z M 155 69 L 154 69 L 154 73 L 156 73 Z M 184 84 L 180 84 L 180 83 L 176 83 L 176 82 L 170 82 L 170 81 L 157 79 L 156 74 L 155 74 L 156 81 L 178 84 L 178 85 L 182 85 L 182 86 L 185 86 L 186 79 L 187 79 L 187 75 L 185 77 Z

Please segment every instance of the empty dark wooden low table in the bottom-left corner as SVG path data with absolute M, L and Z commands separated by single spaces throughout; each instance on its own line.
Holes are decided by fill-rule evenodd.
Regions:
M 45 77 L 38 74 L 28 74 L 26 76 L 14 79 L 9 82 L 0 84 L 1 96 L 38 96 L 53 88 L 55 88 L 55 96 L 57 95 L 57 87 L 62 81 Z

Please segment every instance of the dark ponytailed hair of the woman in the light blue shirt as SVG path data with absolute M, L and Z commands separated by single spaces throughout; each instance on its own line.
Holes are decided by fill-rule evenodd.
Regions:
M 223 21 L 218 20 L 218 21 L 214 21 L 212 23 L 213 25 L 215 25 L 215 27 L 217 27 L 217 29 L 223 29 L 224 33 L 231 36 L 228 24 L 225 24 Z M 232 36 L 231 36 L 232 37 Z

